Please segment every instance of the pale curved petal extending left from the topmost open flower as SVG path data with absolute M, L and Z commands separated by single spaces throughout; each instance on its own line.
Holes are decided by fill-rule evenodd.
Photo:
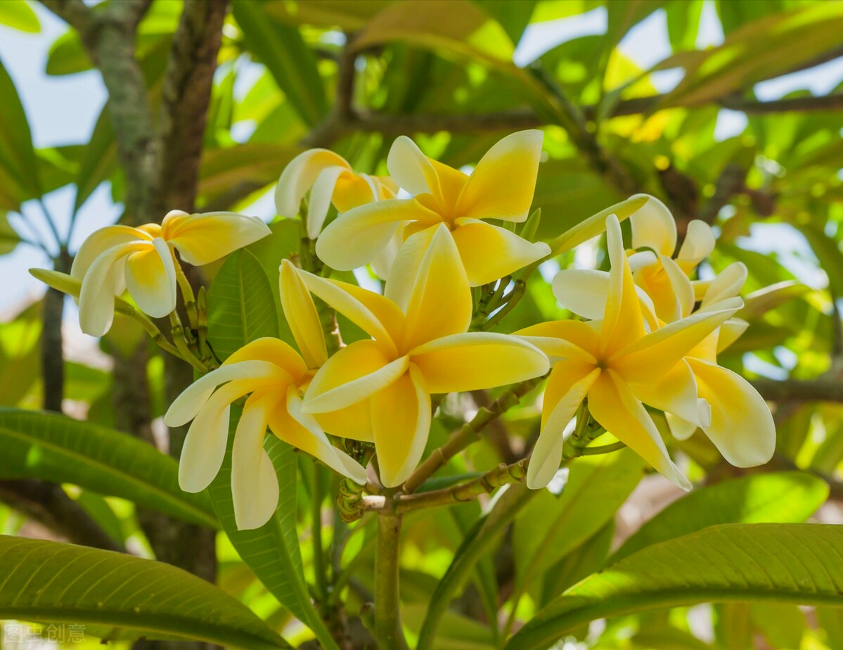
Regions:
M 415 199 L 375 201 L 343 212 L 316 240 L 316 255 L 338 271 L 368 264 L 389 243 L 402 221 L 439 223 L 442 218 Z

